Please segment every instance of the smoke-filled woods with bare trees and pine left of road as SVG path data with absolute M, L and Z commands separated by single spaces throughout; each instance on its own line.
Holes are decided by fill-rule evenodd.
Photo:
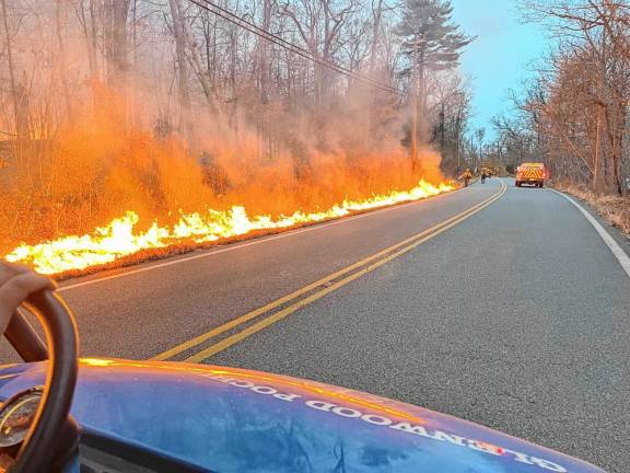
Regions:
M 132 232 L 235 206 L 317 212 L 464 165 L 474 38 L 447 1 L 0 8 L 4 254 L 129 211 Z

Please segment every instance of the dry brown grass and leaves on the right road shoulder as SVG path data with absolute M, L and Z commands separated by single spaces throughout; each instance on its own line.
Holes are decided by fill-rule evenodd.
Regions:
M 616 195 L 596 196 L 583 185 L 567 182 L 553 182 L 552 186 L 584 200 L 597 211 L 608 223 L 630 236 L 630 197 Z

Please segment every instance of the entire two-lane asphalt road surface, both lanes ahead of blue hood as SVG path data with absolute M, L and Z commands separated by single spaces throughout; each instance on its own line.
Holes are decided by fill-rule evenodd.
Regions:
M 206 362 L 394 397 L 627 472 L 630 278 L 567 199 L 509 185 L 468 219 Z M 77 279 L 62 296 L 77 312 L 83 355 L 150 358 L 499 188 L 491 180 L 354 219 Z M 0 355 L 10 359 L 5 347 Z

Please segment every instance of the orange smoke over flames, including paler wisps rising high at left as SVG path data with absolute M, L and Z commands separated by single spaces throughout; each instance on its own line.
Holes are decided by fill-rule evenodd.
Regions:
M 112 90 L 86 73 L 80 38 L 66 38 L 63 64 L 57 48 L 45 48 L 55 41 L 49 34 L 22 41 L 32 46 L 18 50 L 19 68 L 31 71 L 21 79 L 30 131 L 2 148 L 2 254 L 21 242 L 91 232 L 127 210 L 141 228 L 234 205 L 277 217 L 443 181 L 434 151 L 421 150 L 420 165 L 411 165 L 398 97 L 366 85 L 320 102 L 273 93 L 264 101 L 245 83 L 238 102 L 210 104 L 190 78 L 199 99 L 178 109 L 164 74 L 147 65 Z M 37 51 L 50 62 L 38 62 Z M 166 53 L 148 51 L 147 64 Z

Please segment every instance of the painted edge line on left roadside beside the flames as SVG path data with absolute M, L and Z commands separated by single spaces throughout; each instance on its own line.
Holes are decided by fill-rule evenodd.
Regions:
M 219 249 L 219 250 L 214 250 L 214 251 L 212 251 L 212 250 L 206 250 L 202 254 L 192 255 L 192 256 L 186 256 L 186 257 L 182 257 L 182 258 L 174 259 L 174 261 L 170 261 L 170 262 L 165 262 L 165 263 L 152 264 L 152 265 L 150 265 L 150 266 L 145 266 L 145 267 L 137 268 L 137 269 L 125 270 L 125 272 L 122 272 L 122 273 L 117 273 L 117 274 L 115 274 L 115 275 L 104 276 L 104 277 L 100 277 L 100 278 L 96 278 L 96 279 L 90 279 L 90 280 L 86 280 L 86 281 L 83 281 L 83 282 L 77 282 L 77 284 L 73 284 L 73 285 L 61 286 L 61 287 L 59 287 L 59 288 L 57 289 L 57 292 L 65 292 L 65 291 L 67 291 L 67 290 L 77 289 L 77 288 L 80 288 L 80 287 L 83 287 L 83 286 L 91 286 L 91 285 L 93 285 L 93 284 L 104 282 L 104 281 L 110 280 L 110 279 L 118 279 L 118 278 L 126 277 L 126 276 L 132 276 L 132 275 L 135 275 L 135 274 L 145 273 L 145 272 L 149 272 L 149 270 L 159 269 L 159 268 L 163 268 L 163 267 L 166 267 L 166 266 L 173 266 L 173 265 L 176 265 L 176 264 L 179 264 L 179 263 L 186 263 L 186 262 L 194 261 L 194 259 L 200 259 L 200 258 L 213 256 L 213 255 L 217 255 L 217 254 L 220 254 L 220 253 L 225 253 L 225 252 L 230 252 L 230 251 L 240 250 L 240 249 L 243 249 L 243 247 L 246 247 L 246 246 L 252 246 L 252 245 L 255 245 L 255 244 L 266 243 L 266 242 L 269 242 L 269 241 L 279 240 L 279 239 L 288 238 L 288 236 L 293 236 L 293 235 L 298 235 L 298 234 L 301 234 L 301 233 L 306 233 L 306 232 L 314 231 L 314 230 L 320 230 L 320 229 L 324 229 L 324 228 L 327 228 L 327 227 L 332 227 L 332 226 L 337 226 L 337 224 L 341 224 L 341 223 L 347 223 L 347 222 L 350 222 L 350 221 L 352 221 L 352 220 L 358 220 L 358 219 L 364 218 L 364 217 L 371 217 L 371 216 L 373 216 L 373 215 L 377 215 L 377 214 L 381 214 L 381 212 L 384 212 L 384 211 L 389 211 L 389 210 L 395 210 L 395 209 L 404 208 L 404 207 L 407 207 L 407 206 L 411 206 L 411 205 L 415 205 L 415 204 L 419 204 L 419 203 L 424 201 L 424 200 L 434 200 L 436 197 L 443 197 L 443 196 L 453 195 L 453 194 L 455 194 L 457 191 L 460 191 L 460 189 L 463 189 L 463 188 L 464 188 L 464 187 L 460 187 L 460 188 L 457 188 L 457 189 L 455 189 L 455 191 L 451 191 L 451 192 L 447 192 L 447 193 L 443 193 L 443 194 L 438 194 L 438 195 L 434 195 L 434 196 L 430 196 L 429 198 L 425 197 L 425 198 L 421 198 L 421 199 L 418 199 L 418 200 L 412 200 L 412 201 L 405 203 L 405 204 L 399 204 L 399 205 L 389 206 L 389 207 L 386 207 L 386 208 L 383 208 L 383 209 L 376 209 L 376 210 L 366 211 L 366 212 L 364 212 L 364 214 L 359 214 L 359 215 L 352 216 L 352 217 L 341 217 L 341 218 L 338 218 L 338 219 L 336 219 L 336 220 L 334 220 L 334 221 L 330 221 L 330 222 L 327 222 L 327 223 L 315 223 L 315 224 L 313 224 L 313 226 L 311 226 L 311 227 L 306 227 L 306 228 L 302 228 L 302 229 L 287 230 L 287 231 L 283 231 L 283 232 L 279 233 L 279 234 L 276 234 L 276 235 L 262 236 L 262 238 L 255 239 L 255 240 L 252 240 L 252 241 L 246 242 L 246 243 L 240 243 L 240 244 L 238 244 L 238 243 L 232 243 L 232 244 L 228 243 L 226 246 L 223 247 L 223 249 Z

